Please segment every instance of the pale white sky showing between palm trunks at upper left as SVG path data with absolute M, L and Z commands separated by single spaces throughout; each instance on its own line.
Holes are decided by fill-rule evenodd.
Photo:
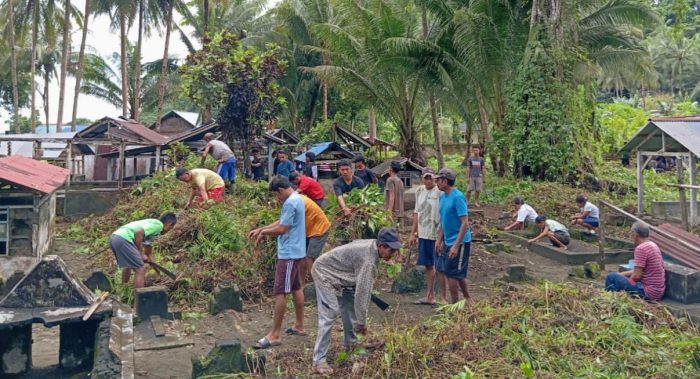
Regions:
M 79 9 L 84 9 L 84 0 L 73 0 L 71 1 Z M 175 21 L 177 21 L 177 15 L 175 16 Z M 89 34 L 87 37 L 87 46 L 94 49 L 94 51 L 101 55 L 107 56 L 114 52 L 120 50 L 119 42 L 119 31 L 110 30 L 109 28 L 109 17 L 106 15 L 98 16 L 96 18 L 90 17 L 89 23 Z M 137 39 L 136 23 L 129 33 L 129 40 L 133 43 Z M 163 47 L 165 44 L 165 30 L 163 30 L 163 35 L 159 35 L 158 32 L 151 34 L 150 38 L 144 36 L 144 43 L 142 48 L 142 62 L 149 62 L 156 59 L 163 58 Z M 82 30 L 78 29 L 76 25 L 73 25 L 73 32 L 71 37 L 71 44 L 75 51 L 80 49 L 80 41 L 82 38 Z M 187 56 L 187 48 L 185 44 L 179 38 L 179 35 L 174 32 L 170 36 L 170 50 L 169 55 L 174 58 L 185 58 Z M 60 75 L 60 65 L 57 65 L 58 73 Z M 36 78 L 38 88 L 43 88 L 43 82 L 40 78 Z M 58 78 L 51 82 L 49 88 L 50 99 L 49 99 L 49 122 L 55 123 L 56 116 L 58 114 L 58 92 L 59 83 Z M 63 122 L 64 124 L 69 124 L 71 116 L 73 113 L 73 97 L 75 93 L 75 78 L 67 76 L 66 79 L 66 91 L 65 91 L 65 101 L 63 108 Z M 40 96 L 37 93 L 37 108 L 41 111 L 40 120 L 44 120 L 43 103 L 41 102 Z M 78 117 L 84 117 L 91 120 L 99 119 L 105 116 L 118 116 L 121 114 L 121 108 L 116 108 L 111 104 L 104 102 L 93 96 L 88 96 L 81 94 L 78 100 Z M 167 111 L 167 110 L 166 110 Z M 30 115 L 29 109 L 22 109 L 21 114 L 23 116 Z M 0 109 L 0 133 L 4 133 L 8 130 L 8 122 L 10 115 L 4 110 Z

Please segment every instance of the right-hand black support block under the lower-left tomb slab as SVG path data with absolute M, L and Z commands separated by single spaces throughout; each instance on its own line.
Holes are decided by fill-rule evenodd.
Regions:
M 61 324 L 58 364 L 65 369 L 91 369 L 99 322 L 88 320 Z

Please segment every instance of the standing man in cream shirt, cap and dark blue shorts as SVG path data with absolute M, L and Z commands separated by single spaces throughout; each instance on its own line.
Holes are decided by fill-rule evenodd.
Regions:
M 426 167 L 421 173 L 423 185 L 416 190 L 416 208 L 413 213 L 413 229 L 408 240 L 413 246 L 418 241 L 418 261 L 416 265 L 425 266 L 425 280 L 428 293 L 414 304 L 435 305 L 435 240 L 440 226 L 440 190 L 435 185 L 435 171 Z M 447 286 L 445 276 L 440 274 L 441 300 L 447 303 Z

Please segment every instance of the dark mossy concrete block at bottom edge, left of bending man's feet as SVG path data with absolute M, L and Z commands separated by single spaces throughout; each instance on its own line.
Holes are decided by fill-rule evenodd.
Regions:
M 242 372 L 241 341 L 217 341 L 206 357 L 192 357 L 192 378 L 214 374 Z

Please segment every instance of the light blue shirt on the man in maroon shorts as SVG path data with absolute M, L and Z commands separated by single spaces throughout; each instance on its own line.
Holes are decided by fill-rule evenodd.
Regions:
M 289 226 L 289 231 L 277 236 L 278 259 L 301 259 L 306 256 L 305 220 L 304 200 L 298 193 L 293 193 L 282 204 L 280 225 Z

